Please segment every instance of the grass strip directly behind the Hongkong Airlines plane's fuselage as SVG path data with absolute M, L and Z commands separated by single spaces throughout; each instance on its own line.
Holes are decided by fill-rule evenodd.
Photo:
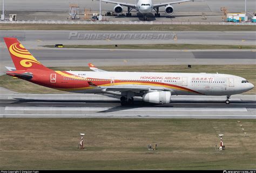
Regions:
M 97 64 L 95 64 L 97 66 Z M 98 67 L 107 71 L 130 72 L 184 72 L 184 73 L 225 73 L 238 75 L 252 82 L 256 86 L 256 65 L 156 65 L 156 66 L 108 66 Z M 54 70 L 91 71 L 89 67 L 53 67 Z M 22 87 L 21 87 L 22 86 Z M 0 87 L 21 93 L 66 93 L 51 88 L 46 88 L 21 79 L 13 79 L 8 75 L 0 76 Z M 256 88 L 246 92 L 256 94 Z

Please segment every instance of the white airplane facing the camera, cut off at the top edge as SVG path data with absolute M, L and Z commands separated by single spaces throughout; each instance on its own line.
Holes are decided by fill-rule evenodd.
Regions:
M 108 0 L 102 0 L 102 2 L 117 4 L 116 6 L 114 6 L 114 13 L 116 13 L 116 15 L 122 15 L 123 6 L 126 6 L 127 7 L 126 17 L 132 16 L 131 10 L 134 9 L 134 10 L 138 11 L 139 13 L 142 13 L 144 20 L 147 20 L 146 15 L 148 13 L 151 13 L 153 10 L 156 12 L 156 13 L 154 13 L 154 16 L 155 17 L 160 17 L 159 7 L 161 7 L 161 6 L 165 6 L 165 14 L 171 16 L 173 14 L 172 4 L 190 2 L 190 0 L 159 3 L 159 4 L 153 4 L 152 0 L 136 0 L 135 1 L 136 4 L 116 2 L 116 1 L 108 1 Z

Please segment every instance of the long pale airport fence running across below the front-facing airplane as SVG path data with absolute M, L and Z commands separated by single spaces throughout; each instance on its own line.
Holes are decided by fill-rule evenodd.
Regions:
M 153 22 L 153 21 L 68 21 L 68 20 L 20 20 L 0 21 L 0 24 L 123 24 L 123 25 L 256 25 L 252 22 Z

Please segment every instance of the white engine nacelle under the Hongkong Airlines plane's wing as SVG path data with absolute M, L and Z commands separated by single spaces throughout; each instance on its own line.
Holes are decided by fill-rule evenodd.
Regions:
M 171 101 L 171 92 L 168 91 L 156 91 L 143 94 L 143 101 L 150 103 L 170 103 Z

